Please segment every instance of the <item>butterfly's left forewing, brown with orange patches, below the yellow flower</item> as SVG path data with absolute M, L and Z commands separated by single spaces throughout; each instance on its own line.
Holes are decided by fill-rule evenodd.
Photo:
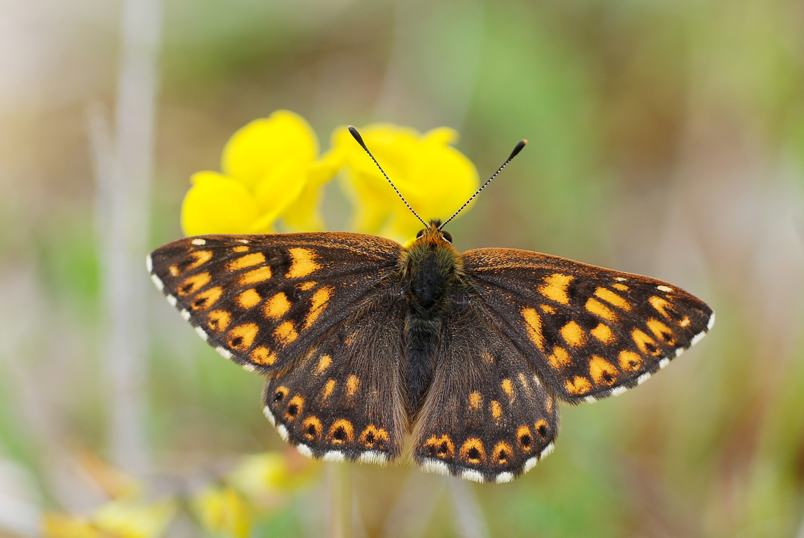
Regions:
M 372 294 L 400 248 L 345 232 L 197 236 L 154 250 L 148 269 L 221 355 L 270 374 Z

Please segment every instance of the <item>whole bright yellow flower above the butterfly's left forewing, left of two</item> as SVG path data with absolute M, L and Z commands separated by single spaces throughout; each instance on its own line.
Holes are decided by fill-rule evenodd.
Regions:
M 338 154 L 318 158 L 318 138 L 305 119 L 288 110 L 254 120 L 224 146 L 222 173 L 202 171 L 182 203 L 182 228 L 204 233 L 321 230 L 322 187 L 341 166 Z

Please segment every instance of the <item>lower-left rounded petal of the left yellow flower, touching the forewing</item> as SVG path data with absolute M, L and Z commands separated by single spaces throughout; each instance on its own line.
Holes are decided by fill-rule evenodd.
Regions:
M 232 178 L 198 172 L 182 203 L 182 228 L 187 236 L 205 233 L 247 233 L 260 216 L 256 198 Z

